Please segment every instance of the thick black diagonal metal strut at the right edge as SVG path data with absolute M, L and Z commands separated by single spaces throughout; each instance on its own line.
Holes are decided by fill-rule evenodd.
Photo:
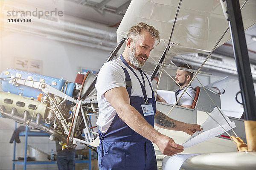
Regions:
M 244 116 L 246 120 L 256 121 L 256 98 L 239 0 L 227 0 L 227 13 L 233 51 L 236 59 L 239 85 L 242 89 L 241 94 L 244 103 Z

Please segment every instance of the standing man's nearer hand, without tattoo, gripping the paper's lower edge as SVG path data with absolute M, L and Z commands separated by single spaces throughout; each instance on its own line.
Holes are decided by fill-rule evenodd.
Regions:
M 155 142 L 155 144 L 158 146 L 161 153 L 168 156 L 172 156 L 184 150 L 183 146 L 175 143 L 172 138 L 169 138 L 168 136 L 165 136 L 163 134 L 160 134 L 160 136 L 158 136 L 157 142 Z

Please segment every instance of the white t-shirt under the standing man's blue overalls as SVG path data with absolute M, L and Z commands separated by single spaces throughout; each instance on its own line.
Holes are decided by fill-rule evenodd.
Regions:
M 131 72 L 129 68 L 125 66 L 122 60 L 119 58 L 106 62 L 102 68 L 99 70 L 99 74 L 97 77 L 97 81 L 95 84 L 97 90 L 97 100 L 99 106 L 99 117 L 97 119 L 96 124 L 99 126 L 99 130 L 102 133 L 105 133 L 111 125 L 113 121 L 116 111 L 110 105 L 110 103 L 105 99 L 105 92 L 116 87 L 125 87 L 125 72 L 123 71 L 122 67 L 126 68 L 130 77 L 131 77 L 131 96 L 140 96 L 143 97 L 143 92 L 140 86 L 140 82 L 135 77 L 135 75 Z M 132 67 L 131 67 L 132 68 Z M 140 81 L 143 84 L 143 80 L 140 74 L 140 71 L 132 68 L 134 72 L 139 77 Z M 143 74 L 145 80 L 145 90 L 148 98 L 152 97 L 152 91 L 148 84 L 148 79 L 150 80 L 149 76 L 147 75 L 148 79 Z M 151 81 L 150 81 L 151 82 Z

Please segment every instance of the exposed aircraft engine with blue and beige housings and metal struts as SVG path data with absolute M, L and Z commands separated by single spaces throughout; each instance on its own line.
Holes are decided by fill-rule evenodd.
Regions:
M 68 82 L 7 69 L 0 75 L 0 115 L 43 130 L 51 134 L 50 139 L 57 138 L 68 146 L 77 141 L 89 144 L 96 138 L 90 118 L 91 113 L 97 116 L 96 91 L 85 99 L 81 96 L 96 75 L 87 72 L 78 76 L 77 82 Z

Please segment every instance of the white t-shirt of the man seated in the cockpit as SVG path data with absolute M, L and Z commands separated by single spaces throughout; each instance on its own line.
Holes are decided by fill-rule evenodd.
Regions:
M 195 98 L 195 90 L 193 88 L 190 88 L 191 86 L 189 86 L 189 88 L 187 88 L 186 92 L 193 97 L 193 99 Z M 186 88 L 186 87 L 185 87 Z M 183 89 L 185 89 L 183 88 Z M 179 97 L 181 96 L 181 94 L 183 93 L 184 90 L 181 90 L 179 94 L 177 94 L 177 99 L 179 99 Z M 178 89 L 177 89 L 178 90 Z M 177 91 L 176 90 L 176 91 Z M 182 95 L 182 97 L 180 98 L 179 102 L 178 102 L 178 105 L 189 105 L 191 106 L 192 103 L 193 103 L 193 99 L 187 94 L 187 93 L 184 93 Z

